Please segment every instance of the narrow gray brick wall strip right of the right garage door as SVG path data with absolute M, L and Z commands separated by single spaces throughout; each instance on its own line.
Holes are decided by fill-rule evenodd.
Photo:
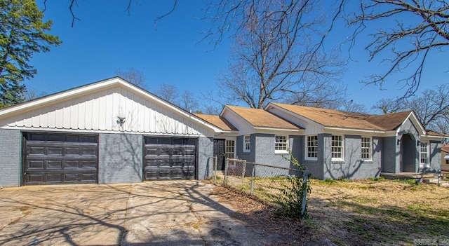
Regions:
M 206 179 L 213 172 L 213 137 L 199 137 L 198 139 L 198 179 Z

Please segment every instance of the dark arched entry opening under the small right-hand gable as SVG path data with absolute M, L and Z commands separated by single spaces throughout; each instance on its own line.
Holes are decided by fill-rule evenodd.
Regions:
M 417 172 L 415 137 L 410 134 L 401 138 L 401 172 Z

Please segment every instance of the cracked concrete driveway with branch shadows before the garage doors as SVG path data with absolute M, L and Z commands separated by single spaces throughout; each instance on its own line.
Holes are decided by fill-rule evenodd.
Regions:
M 268 245 L 195 181 L 0 190 L 0 245 Z M 285 238 L 284 238 L 285 240 Z

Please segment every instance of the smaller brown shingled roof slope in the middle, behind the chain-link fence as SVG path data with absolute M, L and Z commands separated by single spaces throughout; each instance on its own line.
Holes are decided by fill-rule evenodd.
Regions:
M 246 107 L 226 106 L 228 109 L 234 111 L 245 121 L 248 121 L 255 127 L 262 128 L 284 128 L 299 130 L 303 129 L 300 126 L 294 125 L 279 116 L 276 116 L 264 109 L 251 109 Z

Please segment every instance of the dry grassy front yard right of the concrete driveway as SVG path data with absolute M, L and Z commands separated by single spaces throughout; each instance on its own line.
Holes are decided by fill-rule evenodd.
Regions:
M 286 235 L 289 245 L 449 245 L 448 188 L 382 179 L 312 180 L 311 187 L 309 219 L 302 222 L 239 191 L 214 193 L 239 219 Z

